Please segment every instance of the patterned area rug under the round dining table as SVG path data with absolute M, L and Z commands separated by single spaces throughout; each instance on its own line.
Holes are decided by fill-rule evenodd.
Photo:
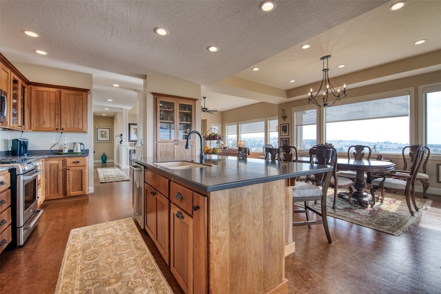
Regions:
M 407 208 L 406 198 L 402 195 L 384 193 L 384 202 L 376 202 L 373 208 L 365 209 L 357 200 L 350 204 L 347 198 L 337 199 L 336 209 L 332 208 L 334 202 L 334 190 L 328 189 L 327 214 L 333 218 L 346 220 L 353 224 L 389 233 L 391 235 L 401 235 L 405 233 L 411 225 L 416 222 L 429 209 L 432 200 L 416 197 L 416 204 L 419 211 L 411 216 Z M 299 203 L 300 204 L 300 203 Z M 302 205 L 302 204 L 300 204 Z M 313 204 L 320 211 L 320 203 Z

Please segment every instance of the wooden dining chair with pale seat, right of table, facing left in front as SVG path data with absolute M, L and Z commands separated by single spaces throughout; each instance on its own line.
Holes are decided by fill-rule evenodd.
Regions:
M 403 173 L 403 171 L 392 171 L 391 174 L 384 174 L 382 178 L 376 178 L 373 180 L 371 183 L 373 205 L 375 205 L 376 202 L 375 192 L 377 190 L 380 190 L 381 193 L 380 202 L 384 201 L 384 191 L 391 193 L 400 192 L 406 196 L 407 207 L 413 216 L 414 213 L 411 207 L 411 201 L 415 210 L 418 211 L 418 207 L 415 202 L 414 184 L 423 158 L 424 147 L 418 146 L 417 149 L 413 149 L 413 165 L 409 173 Z

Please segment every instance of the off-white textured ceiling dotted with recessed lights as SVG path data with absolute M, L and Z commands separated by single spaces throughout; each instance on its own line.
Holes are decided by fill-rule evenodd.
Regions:
M 109 107 L 112 115 L 136 104 L 146 74 L 201 84 L 207 107 L 224 111 L 291 98 L 222 85 L 231 77 L 286 92 L 319 83 L 320 57 L 327 54 L 332 81 L 441 48 L 441 1 L 407 1 L 396 12 L 389 11 L 392 1 L 275 2 L 273 12 L 261 12 L 260 1 L 245 0 L 0 0 L 0 52 L 12 62 L 92 74 L 94 113 Z M 170 34 L 154 34 L 158 26 Z M 31 39 L 22 30 L 40 37 Z M 428 41 L 413 45 L 418 39 Z M 311 49 L 300 49 L 303 43 Z M 209 53 L 209 45 L 219 52 Z M 48 55 L 35 54 L 36 49 Z M 346 67 L 338 69 L 342 63 Z M 255 66 L 258 72 L 251 70 Z M 406 74 L 411 72 L 401 75 Z

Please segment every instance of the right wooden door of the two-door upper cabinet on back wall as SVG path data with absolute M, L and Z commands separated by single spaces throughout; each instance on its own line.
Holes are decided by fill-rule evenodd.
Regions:
M 88 97 L 85 92 L 61 90 L 60 125 L 63 132 L 88 131 Z

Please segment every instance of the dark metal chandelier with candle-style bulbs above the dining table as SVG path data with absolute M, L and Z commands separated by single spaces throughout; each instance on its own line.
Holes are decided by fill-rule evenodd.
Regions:
M 334 103 L 336 103 L 337 101 L 340 100 L 341 96 L 346 96 L 346 84 L 343 85 L 343 92 L 340 92 L 340 89 L 336 90 L 334 87 L 332 87 L 331 81 L 329 81 L 328 59 L 330 57 L 331 57 L 331 55 L 327 55 L 327 56 L 323 56 L 322 58 L 320 58 L 320 60 L 323 61 L 323 78 L 322 78 L 322 83 L 320 84 L 320 87 L 318 88 L 318 91 L 317 91 L 316 94 L 312 93 L 312 89 L 311 89 L 311 92 L 308 93 L 308 103 L 313 102 L 318 107 L 332 106 L 332 105 L 334 105 Z M 326 61 L 326 67 L 325 67 L 325 61 Z M 323 90 L 322 90 L 322 87 L 323 87 Z M 323 91 L 323 93 L 322 93 L 322 102 L 320 101 L 320 103 L 319 103 L 316 100 L 316 98 L 320 94 L 321 91 Z M 329 94 L 332 94 L 332 96 L 334 96 L 334 98 L 335 98 L 334 102 L 332 102 L 332 103 L 328 102 Z M 332 99 L 332 96 L 330 97 L 331 99 Z M 320 97 L 319 97 L 319 99 L 320 99 Z

